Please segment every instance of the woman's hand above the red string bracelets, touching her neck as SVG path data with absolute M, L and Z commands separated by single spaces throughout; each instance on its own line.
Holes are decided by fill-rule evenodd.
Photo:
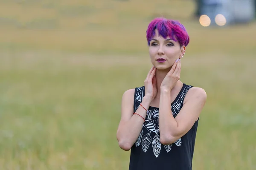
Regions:
M 147 78 L 144 81 L 145 96 L 147 96 L 151 100 L 153 100 L 157 96 L 157 86 L 156 86 L 156 76 L 155 76 L 156 70 L 157 68 L 153 66 L 148 72 Z

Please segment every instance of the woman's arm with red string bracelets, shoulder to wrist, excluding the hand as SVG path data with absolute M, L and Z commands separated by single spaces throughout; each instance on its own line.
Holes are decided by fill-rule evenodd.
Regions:
M 151 98 L 144 96 L 141 105 L 148 110 L 150 103 Z M 147 113 L 144 108 L 140 106 L 136 113 L 145 119 Z M 119 147 L 126 151 L 130 150 L 138 139 L 144 123 L 144 119 L 137 114 L 133 114 L 133 111 L 134 89 L 130 89 L 125 91 L 122 96 L 121 120 L 116 133 Z

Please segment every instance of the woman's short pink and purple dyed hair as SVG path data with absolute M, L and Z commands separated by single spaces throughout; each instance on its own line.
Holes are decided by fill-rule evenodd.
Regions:
M 189 44 L 189 35 L 186 28 L 176 20 L 168 20 L 166 18 L 160 17 L 152 20 L 146 31 L 148 45 L 155 35 L 155 29 L 159 32 L 163 38 L 170 37 L 175 42 L 179 42 L 180 47 L 183 45 L 187 46 Z

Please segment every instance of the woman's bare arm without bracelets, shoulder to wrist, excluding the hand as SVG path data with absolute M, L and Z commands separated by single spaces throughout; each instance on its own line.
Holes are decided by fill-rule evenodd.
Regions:
M 161 89 L 160 93 L 160 142 L 172 144 L 192 128 L 205 105 L 207 95 L 202 88 L 191 88 L 184 98 L 183 107 L 174 118 L 171 111 L 171 91 Z

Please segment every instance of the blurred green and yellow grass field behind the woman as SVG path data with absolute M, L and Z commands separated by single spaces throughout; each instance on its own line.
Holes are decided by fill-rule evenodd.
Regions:
M 125 170 L 124 91 L 151 68 L 145 31 L 180 20 L 181 81 L 204 88 L 193 169 L 256 169 L 256 23 L 202 27 L 192 0 L 0 0 L 0 169 Z

